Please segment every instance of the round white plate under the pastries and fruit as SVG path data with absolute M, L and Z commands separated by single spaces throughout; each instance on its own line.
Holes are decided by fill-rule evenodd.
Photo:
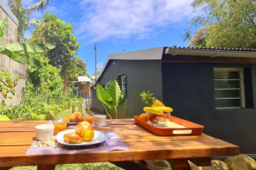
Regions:
M 85 146 L 85 145 L 91 145 L 91 144 L 99 144 L 102 143 L 105 140 L 105 135 L 99 131 L 94 129 L 94 138 L 93 140 L 89 142 L 83 142 L 81 144 L 68 144 L 64 142 L 64 134 L 75 132 L 75 129 L 66 129 L 64 131 L 59 132 L 56 135 L 56 140 L 60 144 L 68 145 L 68 146 Z

